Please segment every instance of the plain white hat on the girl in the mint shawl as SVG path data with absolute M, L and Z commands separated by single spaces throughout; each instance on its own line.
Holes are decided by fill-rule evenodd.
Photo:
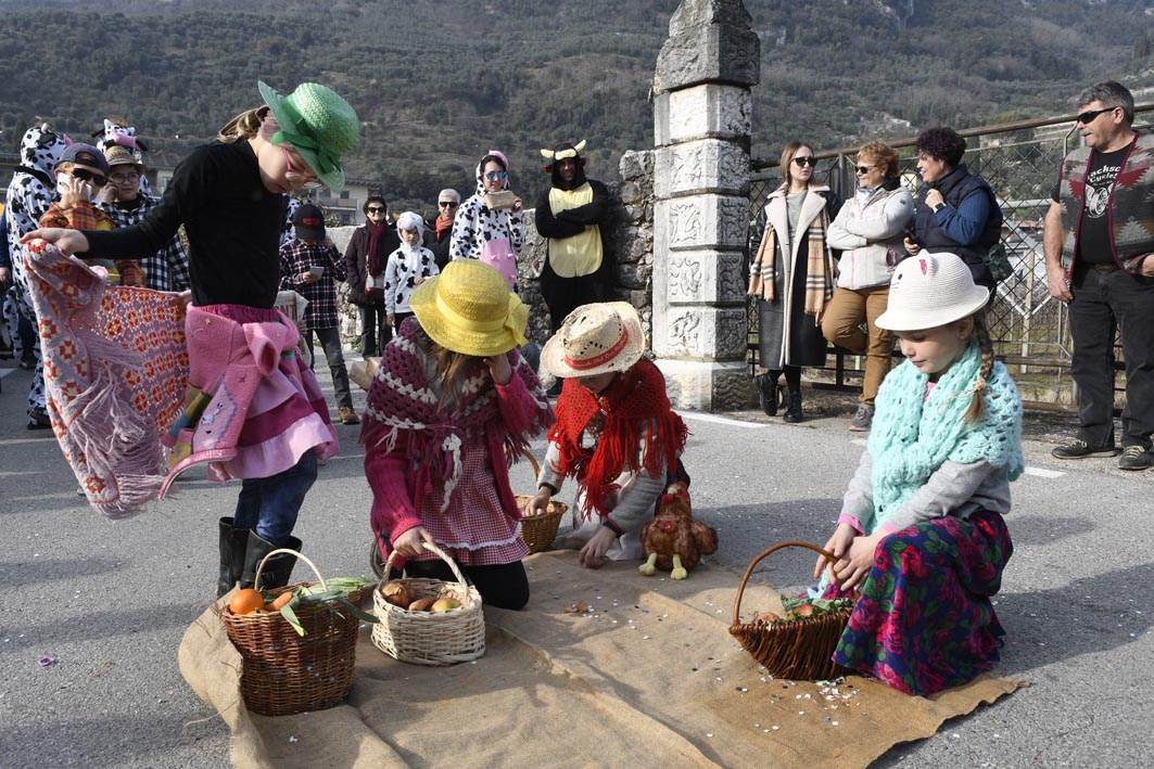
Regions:
M 904 259 L 890 279 L 890 303 L 875 323 L 890 331 L 936 329 L 982 309 L 990 289 L 974 285 L 969 267 L 956 254 Z

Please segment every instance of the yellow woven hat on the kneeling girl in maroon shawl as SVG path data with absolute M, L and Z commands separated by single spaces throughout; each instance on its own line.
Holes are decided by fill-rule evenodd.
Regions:
M 529 341 L 529 308 L 500 272 L 477 259 L 450 262 L 417 287 L 409 306 L 425 333 L 455 353 L 488 357 Z

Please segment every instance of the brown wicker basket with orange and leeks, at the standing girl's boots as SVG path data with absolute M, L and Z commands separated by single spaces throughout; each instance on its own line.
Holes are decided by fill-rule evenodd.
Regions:
M 308 564 L 321 586 L 327 587 L 312 560 L 287 549 L 273 550 L 264 557 L 256 568 L 256 585 L 261 583 L 261 570 L 268 559 L 282 552 Z M 269 593 L 280 595 L 301 585 L 316 582 L 300 582 Z M 360 590 L 349 594 L 353 605 L 360 600 Z M 345 699 L 353 685 L 360 620 L 349 611 L 338 611 L 339 616 L 321 604 L 298 608 L 297 619 L 305 635 L 298 635 L 279 612 L 234 615 L 227 608 L 220 612 L 228 640 L 245 661 L 240 692 L 249 710 L 262 716 L 287 716 L 324 710 Z

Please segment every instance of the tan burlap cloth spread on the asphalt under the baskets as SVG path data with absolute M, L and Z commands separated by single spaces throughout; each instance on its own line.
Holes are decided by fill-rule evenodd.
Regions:
M 484 657 L 409 665 L 362 628 L 353 691 L 329 710 L 249 714 L 240 656 L 211 609 L 185 634 L 180 669 L 227 722 L 241 768 L 864 767 L 1021 685 L 983 676 L 926 699 L 856 676 L 835 688 L 774 680 L 728 634 L 733 572 L 703 565 L 674 582 L 636 564 L 584 570 L 574 552 L 526 566 L 532 601 L 485 610 Z M 751 586 L 743 616 L 755 608 L 779 597 Z

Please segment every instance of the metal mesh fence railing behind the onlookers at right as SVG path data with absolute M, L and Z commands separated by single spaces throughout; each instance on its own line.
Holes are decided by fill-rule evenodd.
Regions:
M 1154 111 L 1154 104 L 1136 112 Z M 1073 410 L 1077 398 L 1070 378 L 1072 342 L 1066 306 L 1050 296 L 1042 250 L 1042 226 L 1049 209 L 1058 167 L 1073 142 L 1074 115 L 1028 120 L 958 131 L 969 138 L 962 163 L 972 173 L 989 182 L 998 197 L 1005 219 L 1002 239 L 1013 274 L 998 284 L 990 306 L 990 334 L 998 357 L 1011 367 L 1022 390 L 1027 407 L 1047 410 Z M 1141 126 L 1137 125 L 1136 128 Z M 1050 128 L 1051 130 L 1046 130 Z M 1056 130 L 1054 128 L 1057 128 Z M 977 141 L 974 142 L 973 140 Z M 909 151 L 916 137 L 889 142 L 902 151 L 901 178 L 914 195 L 921 186 L 916 158 Z M 842 199 L 853 196 L 853 166 L 859 146 L 816 152 L 817 178 L 830 184 Z M 904 151 L 905 150 L 905 151 Z M 829 165 L 820 163 L 829 160 Z M 824 166 L 824 167 L 823 167 Z M 747 258 L 757 252 L 765 228 L 766 197 L 780 184 L 778 163 L 755 161 L 750 180 L 750 228 Z M 748 266 L 748 265 L 747 265 Z M 748 274 L 748 270 L 747 270 Z M 757 303 L 750 301 L 749 362 L 757 365 Z M 808 370 L 815 387 L 860 390 L 863 360 L 831 347 L 832 365 Z M 1121 361 L 1121 348 L 1115 356 Z M 1121 363 L 1116 364 L 1121 369 Z

